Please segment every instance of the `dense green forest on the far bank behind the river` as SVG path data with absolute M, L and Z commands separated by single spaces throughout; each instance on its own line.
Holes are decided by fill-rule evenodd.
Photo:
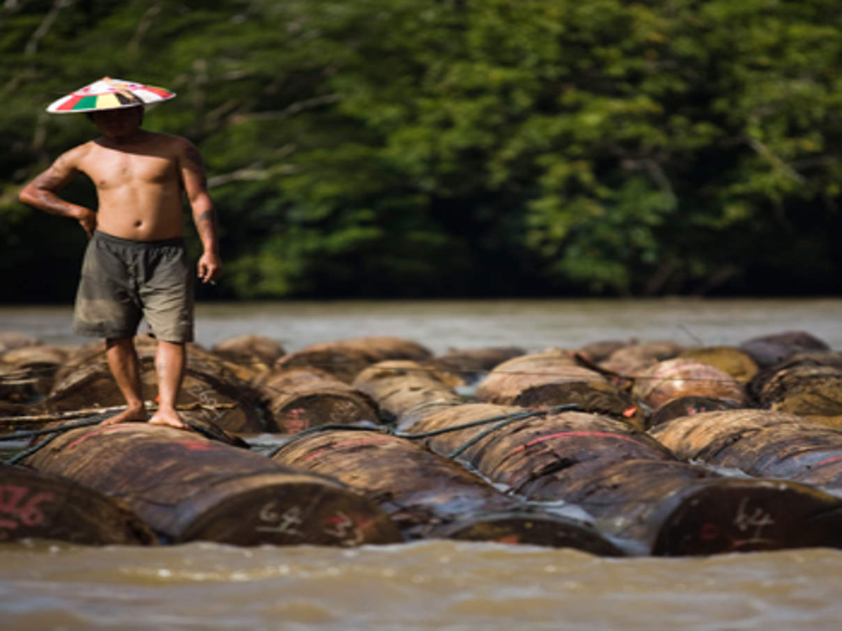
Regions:
M 2 2 L 0 301 L 75 292 L 82 229 L 17 194 L 104 76 L 179 94 L 145 127 L 205 156 L 203 298 L 839 290 L 833 0 Z

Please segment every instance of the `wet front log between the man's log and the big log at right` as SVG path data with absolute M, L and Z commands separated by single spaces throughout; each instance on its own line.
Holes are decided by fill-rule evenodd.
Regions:
M 385 432 L 315 432 L 290 441 L 273 459 L 360 490 L 408 539 L 447 537 L 621 554 L 588 524 L 536 511 L 458 464 Z

